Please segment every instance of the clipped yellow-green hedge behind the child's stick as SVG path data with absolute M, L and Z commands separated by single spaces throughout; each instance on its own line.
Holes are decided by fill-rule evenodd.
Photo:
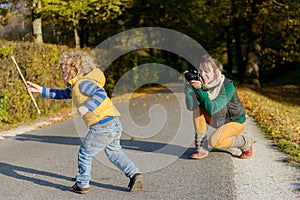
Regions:
M 8 42 L 0 40 L 0 128 L 37 118 L 38 114 L 19 77 L 11 55 L 13 55 L 25 79 L 47 87 L 64 88 L 61 73 L 56 63 L 64 46 Z M 71 107 L 69 101 L 42 99 L 34 94 L 43 115 Z

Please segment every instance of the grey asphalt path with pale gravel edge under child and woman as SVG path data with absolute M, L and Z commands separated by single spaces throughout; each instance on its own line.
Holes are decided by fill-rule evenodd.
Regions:
M 262 165 L 268 159 L 259 154 L 270 157 L 275 150 L 261 136 L 254 135 L 257 144 L 249 160 L 238 159 L 239 152 L 234 149 L 212 150 L 205 159 L 189 159 L 193 152 L 192 116 L 185 111 L 183 100 L 181 88 L 175 88 L 115 101 L 123 114 L 121 144 L 143 173 L 142 191 L 128 192 L 129 180 L 107 161 L 104 153 L 94 159 L 91 192 L 79 195 L 68 191 L 77 172 L 80 138 L 86 133 L 81 119 L 75 117 L 22 134 L 4 135 L 5 140 L 0 141 L 0 198 L 298 199 L 298 171 L 271 156 L 273 160 L 267 163 L 271 169 L 277 166 L 275 170 L 287 170 L 279 174 L 285 177 L 282 181 L 278 173 L 270 172 L 270 166 Z M 261 134 L 250 119 L 245 133 L 254 129 L 255 134 Z M 260 150 L 255 151 L 255 146 Z M 259 178 L 264 175 L 265 179 Z M 279 189 L 272 181 L 281 184 Z M 272 187 L 277 190 L 275 195 Z

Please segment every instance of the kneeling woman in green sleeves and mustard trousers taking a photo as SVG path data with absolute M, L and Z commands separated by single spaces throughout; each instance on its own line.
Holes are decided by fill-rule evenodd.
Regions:
M 246 114 L 233 82 L 221 73 L 222 65 L 210 56 L 198 67 L 199 79 L 189 80 L 185 86 L 187 108 L 193 111 L 196 152 L 190 158 L 208 156 L 213 148 L 241 149 L 240 158 L 252 156 L 253 140 L 242 135 Z M 184 74 L 189 73 L 188 71 Z M 207 138 L 206 124 L 216 130 Z

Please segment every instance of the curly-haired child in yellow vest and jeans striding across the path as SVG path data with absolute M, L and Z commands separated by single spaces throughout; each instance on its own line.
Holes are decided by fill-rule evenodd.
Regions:
M 28 83 L 31 92 L 39 92 L 43 98 L 73 99 L 78 114 L 89 127 L 78 152 L 78 173 L 71 191 L 84 194 L 90 191 L 93 156 L 103 149 L 108 159 L 130 178 L 129 190 L 143 187 L 143 177 L 135 164 L 124 154 L 120 146 L 122 126 L 120 113 L 103 89 L 105 76 L 97 68 L 92 57 L 84 52 L 66 52 L 58 62 L 62 78 L 68 87 L 64 90 L 41 87 Z

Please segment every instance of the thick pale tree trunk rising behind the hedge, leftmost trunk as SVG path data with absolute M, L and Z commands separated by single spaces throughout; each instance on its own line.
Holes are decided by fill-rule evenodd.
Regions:
M 35 43 L 43 43 L 42 17 L 39 11 L 42 8 L 42 0 L 33 0 L 32 4 L 33 41 Z

